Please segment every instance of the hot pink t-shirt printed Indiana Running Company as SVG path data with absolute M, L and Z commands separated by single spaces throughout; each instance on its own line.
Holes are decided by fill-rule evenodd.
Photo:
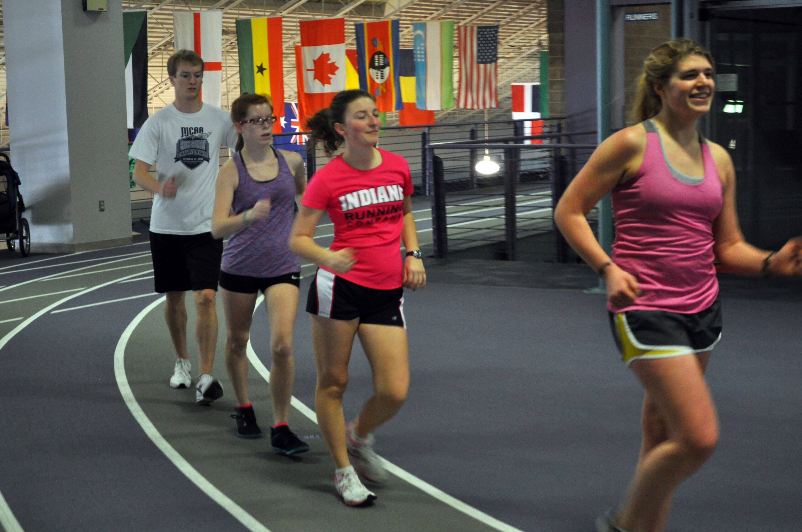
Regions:
M 403 280 L 403 199 L 412 194 L 412 176 L 406 159 L 377 149 L 382 163 L 371 170 L 350 166 L 342 155 L 334 157 L 315 172 L 302 204 L 329 213 L 334 224 L 332 251 L 356 252 L 354 268 L 336 275 L 367 288 L 392 290 Z

